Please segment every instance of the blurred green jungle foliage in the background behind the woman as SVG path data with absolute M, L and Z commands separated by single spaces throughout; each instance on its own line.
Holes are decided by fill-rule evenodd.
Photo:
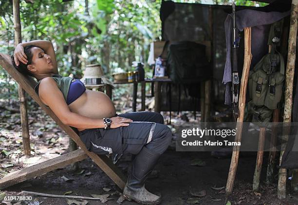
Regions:
M 176 0 L 199 3 L 202 0 Z M 150 42 L 161 39 L 161 0 L 20 1 L 22 40 L 52 41 L 59 72 L 81 78 L 86 64 L 100 63 L 106 74 L 129 71 L 133 61 L 146 62 Z M 230 3 L 213 0 L 213 3 Z M 237 0 L 237 5 L 256 5 Z M 260 6 L 263 3 L 258 3 Z M 14 50 L 12 0 L 0 0 L 0 52 Z M 145 66 L 147 72 L 149 67 Z M 151 76 L 148 76 L 151 77 Z M 17 97 L 17 85 L 0 68 L 0 98 Z M 120 91 L 119 91 L 120 92 Z M 122 91 L 121 91 L 122 92 Z

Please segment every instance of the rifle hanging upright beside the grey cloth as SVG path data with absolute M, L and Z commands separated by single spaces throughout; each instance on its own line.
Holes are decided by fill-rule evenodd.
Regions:
M 232 46 L 232 109 L 235 121 L 239 116 L 239 75 L 238 75 L 238 47 L 240 37 L 236 37 L 236 5 L 232 5 L 232 14 L 233 14 L 233 46 Z

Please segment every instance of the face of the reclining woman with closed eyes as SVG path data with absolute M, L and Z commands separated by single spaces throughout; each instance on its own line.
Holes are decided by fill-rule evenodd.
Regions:
M 32 47 L 31 53 L 33 54 L 32 63 L 27 65 L 27 67 L 33 74 L 48 74 L 54 72 L 51 56 L 45 54 L 44 51 L 38 47 Z

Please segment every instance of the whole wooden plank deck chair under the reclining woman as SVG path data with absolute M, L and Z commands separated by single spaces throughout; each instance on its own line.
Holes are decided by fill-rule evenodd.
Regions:
M 19 71 L 17 71 L 13 66 L 9 55 L 0 53 L 0 65 L 39 104 L 39 106 L 44 109 L 51 118 L 53 118 L 53 120 L 75 141 L 75 143 L 81 147 L 81 149 L 63 154 L 54 159 L 50 159 L 45 162 L 35 164 L 30 167 L 23 168 L 22 170 L 18 170 L 16 172 L 5 175 L 2 179 L 0 179 L 0 188 L 5 188 L 31 179 L 35 176 L 42 175 L 57 168 L 62 168 L 69 164 L 79 162 L 89 156 L 93 160 L 93 162 L 97 164 L 112 179 L 115 184 L 123 189 L 127 181 L 123 173 L 116 167 L 116 165 L 112 163 L 112 160 L 110 160 L 107 156 L 97 155 L 93 152 L 89 152 L 85 144 L 78 136 L 77 130 L 63 124 L 53 113 L 53 111 L 45 104 L 43 104 L 43 102 L 41 102 L 34 90 L 34 86 L 37 84 L 37 82 L 35 82 L 31 77 L 26 77 L 19 73 Z

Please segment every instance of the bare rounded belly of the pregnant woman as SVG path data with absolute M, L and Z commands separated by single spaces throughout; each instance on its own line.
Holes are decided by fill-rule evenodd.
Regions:
M 86 90 L 68 107 L 72 112 L 95 119 L 112 118 L 116 114 L 111 99 L 105 93 L 93 90 Z M 78 129 L 82 130 L 84 129 Z

